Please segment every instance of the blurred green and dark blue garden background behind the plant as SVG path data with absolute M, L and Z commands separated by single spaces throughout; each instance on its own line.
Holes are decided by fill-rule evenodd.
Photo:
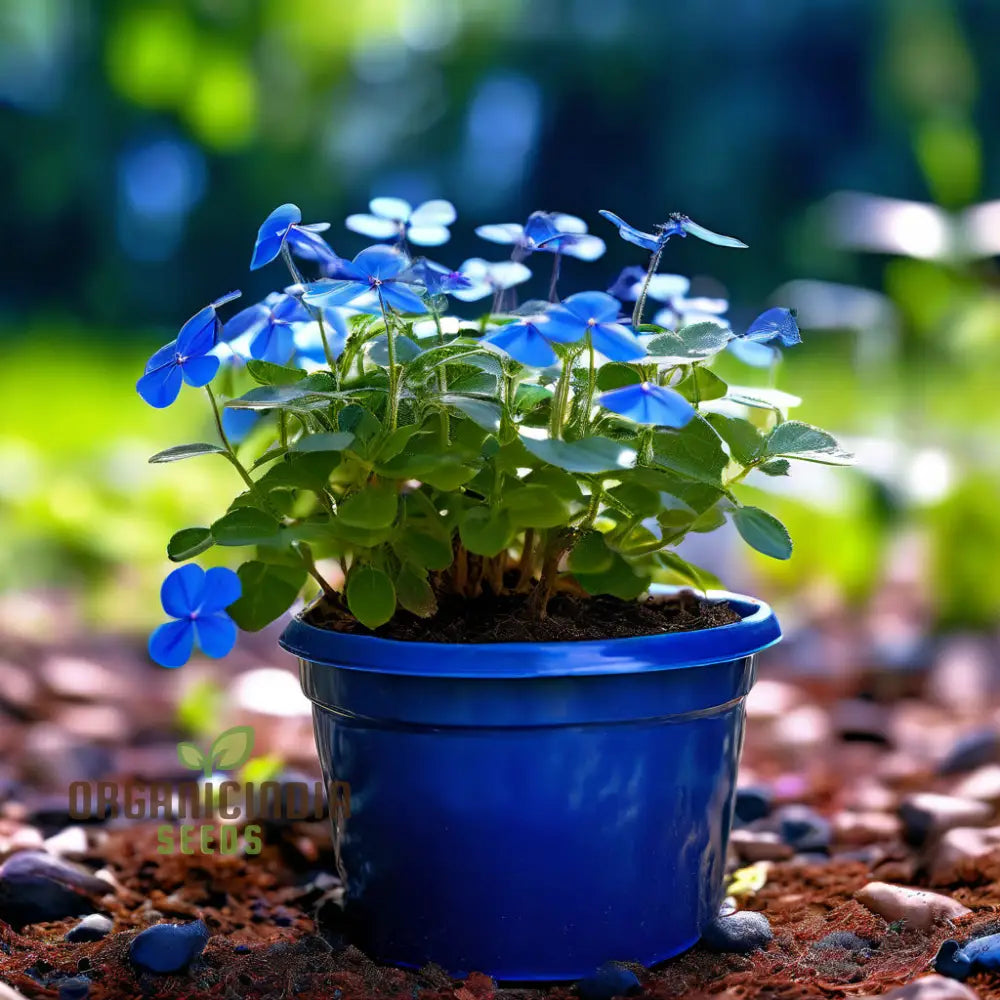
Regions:
M 738 329 L 796 306 L 779 385 L 861 461 L 767 484 L 789 563 L 729 535 L 697 555 L 767 596 L 865 601 L 915 536 L 937 620 L 994 624 L 998 46 L 991 0 L 0 0 L 0 590 L 157 617 L 167 538 L 236 483 L 146 465 L 208 415 L 142 404 L 143 362 L 215 296 L 280 282 L 246 271 L 275 205 L 353 255 L 341 220 L 393 194 L 455 202 L 454 265 L 497 249 L 477 224 L 585 217 L 608 253 L 564 292 L 638 262 L 599 208 L 745 239 L 675 241 L 664 268 L 726 290 Z

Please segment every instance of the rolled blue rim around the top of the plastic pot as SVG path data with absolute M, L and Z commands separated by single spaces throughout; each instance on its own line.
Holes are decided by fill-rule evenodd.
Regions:
M 654 584 L 669 594 L 683 587 Z M 764 601 L 710 590 L 743 618 L 693 632 L 564 642 L 408 642 L 318 628 L 293 618 L 278 639 L 282 649 L 310 663 L 410 677 L 532 678 L 633 674 L 706 666 L 759 653 L 781 639 L 781 626 Z

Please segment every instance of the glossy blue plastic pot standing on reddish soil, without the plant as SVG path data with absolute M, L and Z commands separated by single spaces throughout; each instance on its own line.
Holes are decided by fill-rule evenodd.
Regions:
M 723 898 L 754 654 L 771 609 L 603 642 L 448 645 L 294 620 L 356 943 L 504 980 L 690 948 Z

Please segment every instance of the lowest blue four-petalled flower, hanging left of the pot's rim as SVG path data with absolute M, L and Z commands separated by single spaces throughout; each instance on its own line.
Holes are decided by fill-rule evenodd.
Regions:
M 149 637 L 149 655 L 163 667 L 187 663 L 197 639 L 206 656 L 225 656 L 236 643 L 236 625 L 225 609 L 242 593 L 231 569 L 207 572 L 194 563 L 175 569 L 163 581 L 160 601 L 171 618 Z

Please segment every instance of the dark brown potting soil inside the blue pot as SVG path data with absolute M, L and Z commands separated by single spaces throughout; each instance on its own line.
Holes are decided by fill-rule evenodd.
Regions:
M 527 594 L 490 594 L 471 600 L 441 595 L 438 610 L 430 618 L 400 611 L 374 631 L 320 602 L 307 612 L 306 621 L 337 632 L 405 642 L 582 642 L 695 632 L 738 622 L 740 615 L 727 602 L 708 601 L 691 591 L 681 591 L 645 601 L 557 594 L 541 620 L 531 617 Z

